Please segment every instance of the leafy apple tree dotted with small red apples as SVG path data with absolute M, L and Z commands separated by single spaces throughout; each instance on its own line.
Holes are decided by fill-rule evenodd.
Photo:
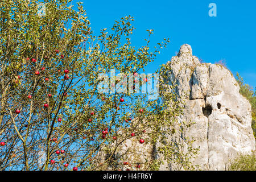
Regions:
M 81 4 L 0 2 L 0 170 L 101 169 L 94 157 L 102 144 L 122 143 L 136 133 L 143 146 L 149 142 L 144 130 L 155 140 L 160 127 L 174 125 L 181 113 L 173 93 L 162 93 L 176 103 L 170 113 L 165 101 L 148 100 L 147 93 L 100 92 L 102 81 L 117 89 L 127 75 L 143 72 L 169 40 L 150 52 L 148 30 L 145 46 L 133 47 L 131 16 L 95 36 Z M 100 77 L 113 69 L 123 76 L 112 82 Z M 134 82 L 148 84 L 147 78 Z M 131 130 L 134 118 L 141 124 Z M 152 122 L 142 122 L 145 118 Z

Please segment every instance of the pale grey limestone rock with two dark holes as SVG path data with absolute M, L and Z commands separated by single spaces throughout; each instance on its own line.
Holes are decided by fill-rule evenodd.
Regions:
M 225 170 L 238 154 L 255 150 L 251 106 L 239 93 L 240 87 L 228 69 L 201 64 L 188 44 L 181 46 L 178 55 L 167 64 L 168 84 L 176 84 L 175 92 L 185 99 L 180 120 L 195 122 L 184 133 L 185 137 L 195 138 L 194 147 L 200 147 L 193 164 L 204 170 Z M 170 140 L 179 137 L 175 135 Z M 160 169 L 174 167 L 164 164 Z

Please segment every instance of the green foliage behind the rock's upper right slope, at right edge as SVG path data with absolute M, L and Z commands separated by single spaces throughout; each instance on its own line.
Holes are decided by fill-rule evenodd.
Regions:
M 243 82 L 243 78 L 237 73 L 236 78 L 239 86 L 240 86 L 240 93 L 243 97 L 245 97 L 251 104 L 251 127 L 253 128 L 254 137 L 256 139 L 256 88 L 253 92 L 253 88 L 248 84 Z

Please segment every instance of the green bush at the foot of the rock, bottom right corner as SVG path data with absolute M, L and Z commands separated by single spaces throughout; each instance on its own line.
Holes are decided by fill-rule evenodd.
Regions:
M 229 168 L 230 171 L 256 171 L 256 156 L 240 155 L 232 163 Z

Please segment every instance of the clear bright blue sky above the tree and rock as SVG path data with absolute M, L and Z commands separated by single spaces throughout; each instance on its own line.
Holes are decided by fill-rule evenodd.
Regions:
M 79 2 L 73 0 L 74 2 Z M 143 46 L 147 29 L 154 29 L 151 45 L 170 38 L 171 43 L 148 65 L 147 73 L 175 56 L 182 44 L 192 46 L 193 55 L 207 63 L 225 59 L 227 67 L 255 89 L 256 1 L 228 0 L 81 0 L 96 34 L 112 27 L 114 20 L 134 16 L 132 43 Z M 209 3 L 216 3 L 217 16 L 210 17 Z

